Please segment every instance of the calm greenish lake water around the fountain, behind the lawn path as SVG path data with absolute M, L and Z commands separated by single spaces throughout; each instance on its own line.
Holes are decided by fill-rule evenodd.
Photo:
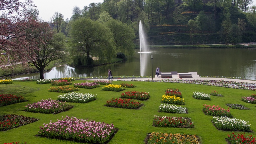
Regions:
M 256 48 L 250 49 L 223 49 L 223 48 L 196 48 L 196 49 L 156 49 L 150 53 L 138 53 L 128 57 L 125 62 L 97 66 L 93 68 L 72 68 L 67 65 L 54 67 L 45 72 L 44 77 L 99 77 L 107 76 L 111 69 L 114 76 L 150 76 L 155 74 L 156 68 L 161 72 L 197 72 L 200 76 L 227 76 L 242 77 L 256 80 Z M 151 59 L 151 55 L 153 59 Z M 39 73 L 20 75 L 12 79 L 21 78 L 39 79 Z

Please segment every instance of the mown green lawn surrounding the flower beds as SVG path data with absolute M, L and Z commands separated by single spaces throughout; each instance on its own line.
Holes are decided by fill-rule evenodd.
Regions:
M 75 81 L 77 82 L 77 81 Z M 79 80 L 79 82 L 86 82 L 85 80 Z M 92 82 L 92 81 L 89 81 Z M 79 144 L 78 142 L 58 140 L 51 138 L 43 138 L 35 136 L 39 131 L 39 127 L 44 123 L 56 122 L 57 119 L 61 119 L 63 116 L 75 116 L 76 118 L 83 118 L 88 120 L 100 121 L 108 124 L 114 124 L 115 128 L 118 128 L 117 134 L 111 139 L 109 144 L 144 144 L 146 135 L 152 132 L 161 133 L 180 133 L 188 135 L 198 135 L 202 144 L 226 144 L 225 138 L 227 134 L 232 134 L 231 131 L 217 130 L 211 120 L 213 116 L 205 115 L 203 113 L 203 105 L 219 105 L 220 107 L 227 109 L 226 103 L 242 104 L 250 110 L 238 110 L 230 109 L 234 118 L 249 121 L 251 124 L 251 130 L 256 132 L 256 107 L 255 104 L 245 103 L 241 100 L 242 96 L 251 95 L 254 91 L 231 89 L 215 86 L 205 86 L 196 84 L 181 84 L 181 83 L 156 83 L 156 82 L 130 82 L 137 87 L 133 88 L 133 91 L 145 91 L 150 92 L 150 98 L 146 101 L 139 101 L 143 104 L 137 110 L 132 109 L 120 109 L 106 107 L 105 102 L 112 98 L 119 98 L 123 92 L 102 91 L 102 87 L 95 89 L 80 89 L 79 93 L 93 93 L 97 94 L 97 99 L 89 103 L 71 103 L 74 105 L 69 111 L 58 114 L 42 114 L 42 113 L 30 113 L 25 112 L 25 106 L 29 103 L 38 102 L 42 99 L 57 99 L 60 93 L 48 92 L 48 89 L 52 87 L 50 84 L 38 85 L 35 81 L 13 81 L 12 84 L 0 85 L 1 94 L 15 94 L 22 95 L 28 101 L 22 103 L 16 103 L 8 106 L 0 107 L 0 115 L 3 114 L 19 114 L 29 117 L 35 117 L 40 120 L 31 124 L 21 126 L 5 132 L 0 132 L 1 143 L 8 143 L 11 141 L 27 142 L 27 144 Z M 113 81 L 113 84 L 120 84 L 120 81 Z M 103 86 L 103 85 L 101 85 Z M 188 114 L 179 113 L 163 113 L 158 112 L 159 106 L 162 104 L 162 95 L 167 88 L 177 88 L 182 92 L 182 97 L 185 100 L 184 107 L 187 108 Z M 208 100 L 196 100 L 191 95 L 195 91 L 204 93 L 211 93 L 212 90 L 218 91 L 225 95 L 224 97 L 211 96 L 211 101 Z M 154 115 L 158 116 L 175 116 L 175 117 L 190 117 L 194 122 L 194 128 L 165 128 L 154 127 L 153 119 Z M 244 133 L 244 132 L 234 132 Z M 256 136 L 255 133 L 245 132 L 245 135 Z

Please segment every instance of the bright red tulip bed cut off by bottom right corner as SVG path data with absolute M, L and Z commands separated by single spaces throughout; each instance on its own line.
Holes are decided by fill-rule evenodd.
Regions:
M 227 140 L 230 144 L 256 144 L 255 137 L 252 137 L 252 135 L 245 136 L 244 134 L 232 133 L 227 136 Z

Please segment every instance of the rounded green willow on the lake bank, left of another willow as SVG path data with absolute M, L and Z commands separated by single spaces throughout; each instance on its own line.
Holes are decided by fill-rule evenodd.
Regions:
M 112 32 L 97 21 L 84 17 L 71 21 L 70 38 L 75 65 L 106 63 L 116 54 Z

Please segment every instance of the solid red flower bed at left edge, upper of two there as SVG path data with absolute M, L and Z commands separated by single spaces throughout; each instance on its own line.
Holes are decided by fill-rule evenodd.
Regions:
M 13 94 L 0 94 L 0 107 L 27 101 L 23 96 Z

